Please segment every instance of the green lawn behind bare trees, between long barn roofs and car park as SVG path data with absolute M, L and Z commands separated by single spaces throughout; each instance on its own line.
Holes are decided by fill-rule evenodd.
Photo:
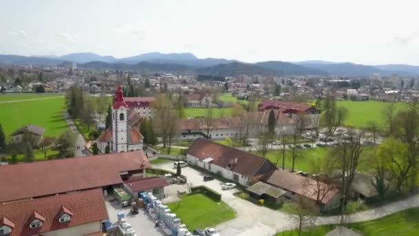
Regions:
M 312 160 L 324 160 L 329 154 L 331 148 L 303 148 L 297 150 L 298 152 L 300 152 L 300 156 L 296 158 L 295 168 L 297 170 L 311 172 L 310 165 L 312 163 Z M 258 153 L 256 152 L 256 154 Z M 374 168 L 374 166 L 371 166 L 369 164 L 371 163 L 371 161 L 367 161 L 368 159 L 372 158 L 372 155 L 374 155 L 374 148 L 367 146 L 364 149 L 364 152 L 362 153 L 362 162 L 360 163 L 358 170 L 369 171 L 372 170 L 372 168 Z M 269 161 L 272 161 L 272 163 L 274 164 L 276 164 L 276 160 L 279 157 L 278 166 L 282 166 L 282 150 L 269 150 L 266 157 L 267 159 L 269 159 Z M 290 149 L 285 150 L 285 167 L 292 168 L 292 150 Z

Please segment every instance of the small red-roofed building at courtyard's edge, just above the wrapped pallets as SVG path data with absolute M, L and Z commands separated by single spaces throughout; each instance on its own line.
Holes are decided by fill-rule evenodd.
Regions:
M 142 192 L 152 193 L 154 197 L 163 199 L 165 197 L 164 187 L 168 186 L 167 181 L 163 177 L 132 177 L 127 181 L 123 181 L 123 188 L 130 193 L 134 199 L 139 198 Z

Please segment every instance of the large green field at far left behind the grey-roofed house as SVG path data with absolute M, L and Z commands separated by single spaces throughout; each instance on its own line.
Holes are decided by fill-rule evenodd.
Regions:
M 41 99 L 33 101 L 19 101 L 25 99 L 37 99 L 46 97 L 57 97 L 57 95 L 0 95 L 0 123 L 7 140 L 11 140 L 10 135 L 17 128 L 28 124 L 34 124 L 46 128 L 45 136 L 58 137 L 67 129 L 62 110 L 64 107 L 64 97 Z M 16 101 L 1 103 L 1 101 Z

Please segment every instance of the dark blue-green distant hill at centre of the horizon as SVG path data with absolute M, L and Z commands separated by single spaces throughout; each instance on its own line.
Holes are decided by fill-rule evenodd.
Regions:
M 250 63 L 232 62 L 228 64 L 218 64 L 197 70 L 200 75 L 218 75 L 225 77 L 235 77 L 238 75 L 260 75 L 260 76 L 280 76 L 282 72 L 271 70 L 263 66 Z

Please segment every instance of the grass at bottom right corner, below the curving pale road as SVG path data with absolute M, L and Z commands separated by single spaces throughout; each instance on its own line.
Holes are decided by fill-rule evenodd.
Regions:
M 368 222 L 349 224 L 348 228 L 358 231 L 363 235 L 393 236 L 419 235 L 419 208 L 403 210 L 400 213 L 382 217 Z M 320 226 L 310 228 L 303 232 L 303 235 L 320 236 L 333 230 L 335 226 Z M 277 233 L 276 236 L 296 236 L 297 230 L 289 230 Z

